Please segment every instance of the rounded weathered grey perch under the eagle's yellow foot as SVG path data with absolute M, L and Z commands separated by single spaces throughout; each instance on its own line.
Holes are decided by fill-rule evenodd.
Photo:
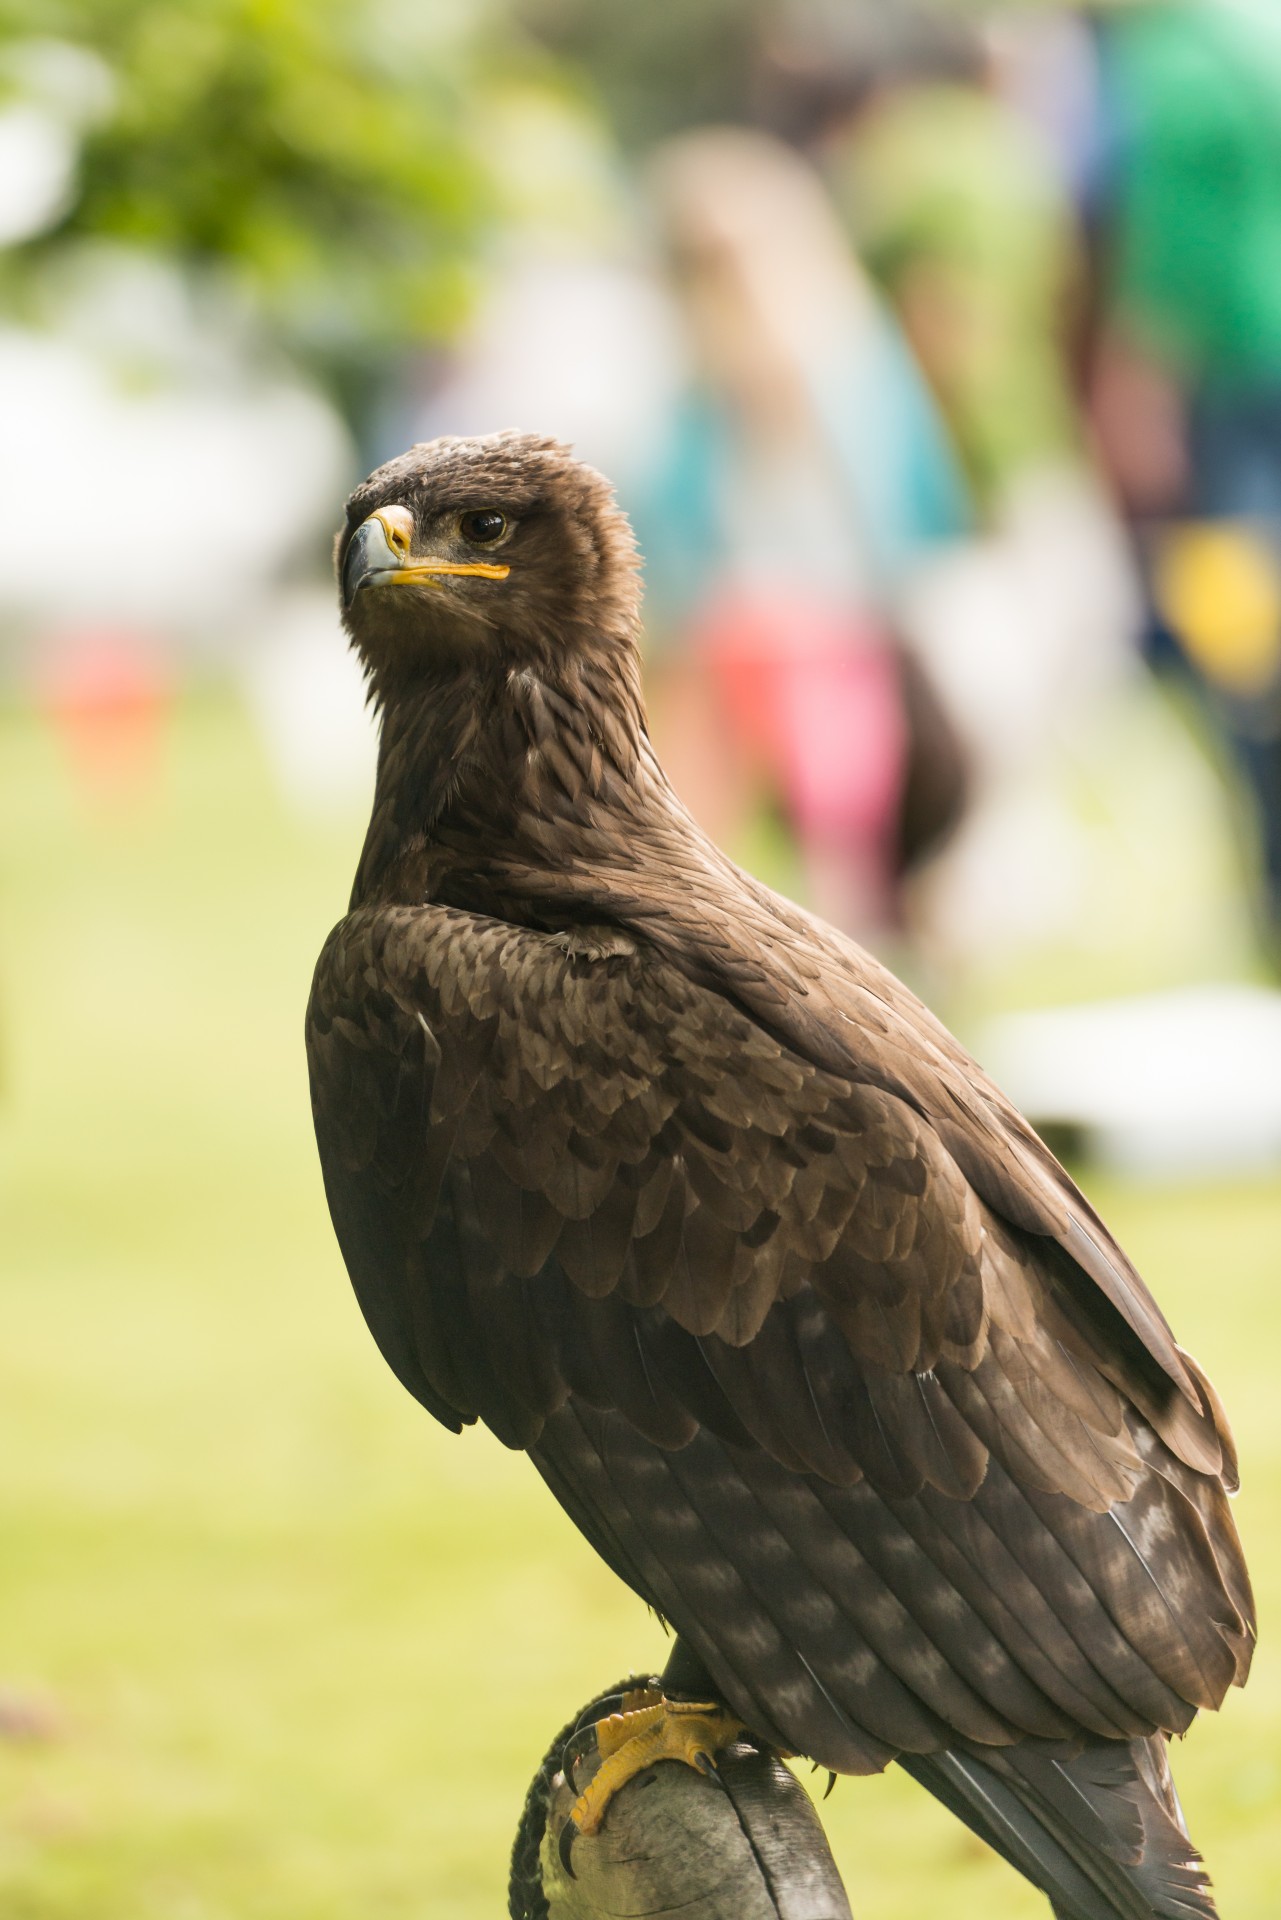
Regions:
M 678 1761 L 638 1774 L 611 1801 L 599 1834 L 574 1841 L 567 1874 L 561 1828 L 597 1757 L 590 1749 L 574 1780 L 561 1759 L 616 1692 L 584 1707 L 530 1788 L 513 1851 L 513 1920 L 851 1920 L 809 1795 L 774 1753 L 749 1741 L 718 1757 L 720 1784 Z

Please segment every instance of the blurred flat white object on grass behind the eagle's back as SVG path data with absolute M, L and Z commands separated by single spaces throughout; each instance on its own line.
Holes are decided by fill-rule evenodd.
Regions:
M 978 1054 L 1035 1125 L 1085 1135 L 1131 1173 L 1235 1173 L 1281 1160 L 1281 993 L 1187 987 L 1003 1014 Z

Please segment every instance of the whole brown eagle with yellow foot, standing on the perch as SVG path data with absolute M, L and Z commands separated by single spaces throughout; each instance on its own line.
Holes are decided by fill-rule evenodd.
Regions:
M 1254 1644 L 1210 1380 L 949 1031 L 682 806 L 605 478 L 415 445 L 336 566 L 380 716 L 307 1008 L 338 1244 L 674 1634 L 565 1836 L 745 1730 L 906 1768 L 1060 1920 L 1212 1916 L 1168 1766 Z

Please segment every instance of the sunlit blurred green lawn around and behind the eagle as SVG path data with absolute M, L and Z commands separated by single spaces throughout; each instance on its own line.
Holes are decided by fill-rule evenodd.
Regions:
M 230 695 L 179 707 L 146 808 L 0 712 L 0 1688 L 48 1722 L 0 1740 L 6 1920 L 490 1920 L 547 1740 L 663 1659 L 350 1296 L 302 1012 L 359 835 L 290 818 Z M 1266 1634 L 1281 1183 L 1091 1188 L 1233 1411 Z M 1268 1638 L 1177 1770 L 1225 1916 L 1273 1916 Z M 893 1770 L 824 1820 L 860 1920 L 1045 1912 Z

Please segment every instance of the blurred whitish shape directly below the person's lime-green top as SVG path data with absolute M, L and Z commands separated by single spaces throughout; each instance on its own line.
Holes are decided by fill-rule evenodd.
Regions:
M 918 931 L 968 991 L 1051 954 L 1104 993 L 1139 983 L 1143 945 L 1150 985 L 1248 956 L 1227 801 L 1139 662 L 1139 622 L 1124 534 L 1083 472 L 1026 474 L 991 534 L 908 584 L 903 624 L 974 780 L 914 883 Z

